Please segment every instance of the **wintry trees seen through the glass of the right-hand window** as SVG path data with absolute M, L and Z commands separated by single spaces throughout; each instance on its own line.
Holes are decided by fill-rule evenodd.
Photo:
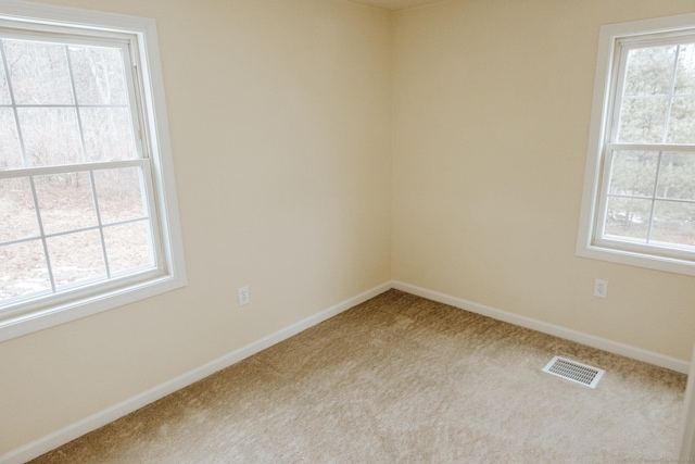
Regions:
M 695 45 L 628 54 L 618 140 L 695 143 Z M 612 152 L 606 234 L 695 247 L 695 153 Z

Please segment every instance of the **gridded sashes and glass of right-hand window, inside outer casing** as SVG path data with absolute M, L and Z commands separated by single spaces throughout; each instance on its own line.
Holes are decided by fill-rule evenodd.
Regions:
M 594 243 L 695 260 L 695 36 L 618 40 Z

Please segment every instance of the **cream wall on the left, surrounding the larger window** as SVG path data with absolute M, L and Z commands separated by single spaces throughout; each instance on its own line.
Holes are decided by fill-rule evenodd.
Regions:
M 391 276 L 387 11 L 51 3 L 157 21 L 189 285 L 1 343 L 0 455 Z

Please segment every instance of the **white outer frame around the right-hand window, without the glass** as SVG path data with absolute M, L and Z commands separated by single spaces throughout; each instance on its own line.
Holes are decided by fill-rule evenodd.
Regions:
M 610 131 L 617 130 L 614 112 L 622 86 L 617 76 L 620 43 L 643 38 L 648 40 L 666 34 L 695 34 L 695 13 L 610 24 L 601 28 L 577 255 L 695 276 L 695 255 L 692 252 L 601 238 L 601 217 L 602 213 L 605 214 L 608 183 L 605 173 L 609 172 L 607 166 L 610 163 L 607 146 Z M 648 146 L 650 150 L 660 150 L 657 143 Z

